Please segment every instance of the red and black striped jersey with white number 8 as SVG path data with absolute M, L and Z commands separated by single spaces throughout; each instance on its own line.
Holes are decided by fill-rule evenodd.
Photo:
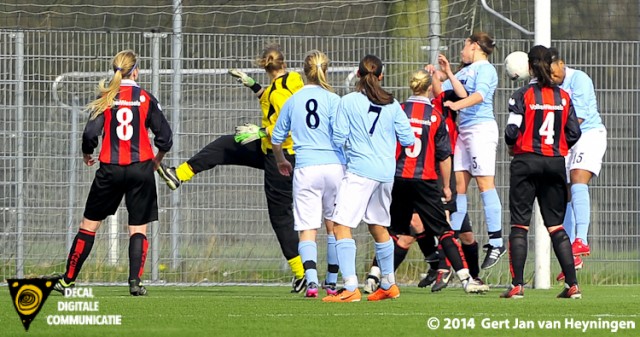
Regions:
M 168 152 L 172 131 L 153 95 L 132 80 L 122 80 L 110 108 L 90 119 L 82 135 L 82 152 L 93 153 L 102 135 L 101 163 L 129 165 L 154 158 L 147 129 L 151 129 L 158 150 Z

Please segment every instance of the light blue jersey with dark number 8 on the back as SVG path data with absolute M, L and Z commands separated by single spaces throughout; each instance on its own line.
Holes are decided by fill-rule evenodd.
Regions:
M 271 135 L 281 144 L 291 131 L 296 168 L 311 165 L 345 164 L 343 151 L 331 141 L 331 121 L 340 96 L 318 85 L 308 84 L 287 99 Z

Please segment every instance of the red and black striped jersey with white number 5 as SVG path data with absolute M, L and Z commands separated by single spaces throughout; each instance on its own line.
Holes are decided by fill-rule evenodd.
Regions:
M 451 143 L 444 117 L 429 99 L 411 96 L 402 103 L 416 137 L 413 146 L 396 150 L 397 178 L 436 180 L 436 163 L 451 155 Z

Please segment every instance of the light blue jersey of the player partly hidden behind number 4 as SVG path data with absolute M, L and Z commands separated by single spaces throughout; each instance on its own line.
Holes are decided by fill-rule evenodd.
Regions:
M 565 67 L 566 76 L 560 88 L 569 93 L 571 103 L 576 110 L 576 116 L 582 119 L 580 130 L 582 132 L 603 128 L 600 113 L 598 113 L 598 102 L 596 101 L 596 91 L 593 82 L 585 72 Z

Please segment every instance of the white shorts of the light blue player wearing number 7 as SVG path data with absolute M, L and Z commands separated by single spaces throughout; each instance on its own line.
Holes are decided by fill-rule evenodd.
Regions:
M 350 228 L 358 227 L 360 221 L 389 227 L 391 189 L 393 182 L 381 183 L 347 172 L 340 183 L 330 220 Z

